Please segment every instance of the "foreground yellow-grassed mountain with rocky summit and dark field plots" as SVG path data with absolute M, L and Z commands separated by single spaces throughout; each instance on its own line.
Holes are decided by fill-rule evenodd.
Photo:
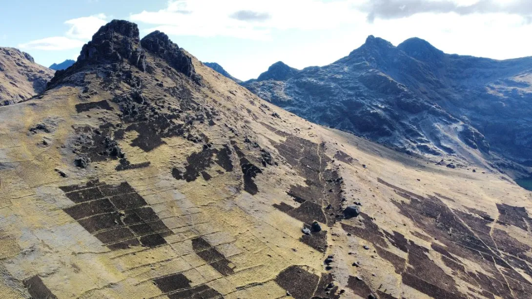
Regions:
M 530 298 L 532 195 L 439 158 L 312 124 L 114 20 L 0 107 L 0 297 Z

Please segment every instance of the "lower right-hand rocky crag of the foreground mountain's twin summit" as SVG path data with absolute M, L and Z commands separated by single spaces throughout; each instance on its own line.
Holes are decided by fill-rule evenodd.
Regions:
M 190 56 L 176 43 L 173 43 L 168 35 L 159 30 L 153 31 L 145 36 L 140 41 L 140 44 L 146 51 L 161 57 L 172 68 L 184 73 L 185 76 L 194 80 L 197 84 L 201 84 L 202 78 L 196 74 Z

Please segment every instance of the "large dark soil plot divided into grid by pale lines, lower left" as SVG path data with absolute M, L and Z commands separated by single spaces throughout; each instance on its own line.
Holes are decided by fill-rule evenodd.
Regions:
M 166 243 L 163 236 L 172 234 L 127 182 L 107 185 L 92 180 L 60 188 L 76 203 L 63 211 L 111 250 L 156 247 Z

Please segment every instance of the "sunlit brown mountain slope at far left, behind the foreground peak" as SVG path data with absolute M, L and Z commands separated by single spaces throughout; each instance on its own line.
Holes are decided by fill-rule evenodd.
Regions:
M 35 63 L 28 53 L 0 47 L 0 106 L 24 101 L 46 88 L 54 71 Z

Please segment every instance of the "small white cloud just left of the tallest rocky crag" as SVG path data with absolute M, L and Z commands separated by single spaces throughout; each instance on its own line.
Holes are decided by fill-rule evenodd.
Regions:
M 31 40 L 28 43 L 20 44 L 19 47 L 45 51 L 80 48 L 107 22 L 105 19 L 107 19 L 105 14 L 97 14 L 66 20 L 64 24 L 70 26 L 70 28 L 65 32 L 64 36 Z

